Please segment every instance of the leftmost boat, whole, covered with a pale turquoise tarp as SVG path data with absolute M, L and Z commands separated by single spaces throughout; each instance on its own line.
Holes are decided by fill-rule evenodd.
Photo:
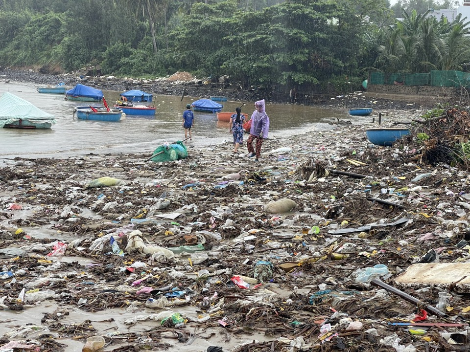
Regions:
M 54 115 L 10 92 L 0 98 L 0 128 L 45 130 L 55 122 Z

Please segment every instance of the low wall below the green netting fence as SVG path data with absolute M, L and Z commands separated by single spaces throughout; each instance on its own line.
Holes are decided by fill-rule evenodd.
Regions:
M 367 85 L 366 96 L 384 99 L 394 99 L 417 104 L 453 103 L 469 101 L 465 89 L 454 87 L 431 86 L 392 86 Z

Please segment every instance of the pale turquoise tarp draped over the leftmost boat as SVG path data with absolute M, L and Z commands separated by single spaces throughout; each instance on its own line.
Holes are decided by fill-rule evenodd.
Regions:
M 9 92 L 3 93 L 0 98 L 0 128 L 18 120 L 54 124 L 54 115 L 43 111 L 30 102 Z

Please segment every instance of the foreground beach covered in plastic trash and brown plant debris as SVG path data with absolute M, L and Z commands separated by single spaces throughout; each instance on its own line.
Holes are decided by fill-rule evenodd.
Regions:
M 377 124 L 272 135 L 259 163 L 3 160 L 0 351 L 468 351 L 468 164 L 445 147 L 469 126 L 445 114 L 392 147 Z

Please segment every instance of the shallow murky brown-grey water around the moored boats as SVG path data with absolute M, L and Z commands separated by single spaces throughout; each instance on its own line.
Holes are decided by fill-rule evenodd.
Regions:
M 61 94 L 41 94 L 32 84 L 5 83 L 0 80 L 0 95 L 4 92 L 15 94 L 57 119 L 50 130 L 0 129 L 1 157 L 68 157 L 82 154 L 146 153 L 155 150 L 164 142 L 184 139 L 182 114 L 186 104 L 200 97 L 155 95 L 152 104 L 157 107 L 155 116 L 127 115 L 119 122 L 77 120 L 73 114 L 76 106 L 87 105 L 64 99 Z M 70 87 L 72 88 L 72 87 Z M 104 91 L 109 105 L 121 92 Z M 254 102 L 223 102 L 222 111 L 235 111 L 251 115 Z M 332 110 L 301 105 L 270 105 L 266 112 L 270 118 L 269 137 L 276 139 L 308 129 L 329 129 L 328 122 L 343 119 L 359 121 L 349 116 L 348 111 Z M 195 126 L 192 141 L 188 146 L 214 145 L 232 140 L 229 125 L 217 121 L 215 114 L 195 112 Z M 356 120 L 354 120 L 356 119 Z

